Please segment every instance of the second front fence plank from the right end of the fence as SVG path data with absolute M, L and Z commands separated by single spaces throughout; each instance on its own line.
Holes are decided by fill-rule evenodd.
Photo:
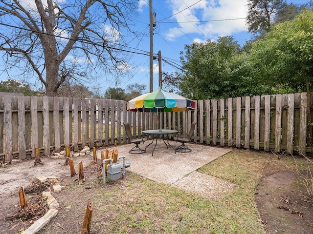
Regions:
M 293 113 L 294 113 L 294 95 L 288 94 L 288 119 L 287 119 L 287 151 L 293 153 Z

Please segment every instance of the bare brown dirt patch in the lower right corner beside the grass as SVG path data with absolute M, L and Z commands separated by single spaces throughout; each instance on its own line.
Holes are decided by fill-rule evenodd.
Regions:
M 312 234 L 313 205 L 298 181 L 290 171 L 260 181 L 256 202 L 269 234 Z

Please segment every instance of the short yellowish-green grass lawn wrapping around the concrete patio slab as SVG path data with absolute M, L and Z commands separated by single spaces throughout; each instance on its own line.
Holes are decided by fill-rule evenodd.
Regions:
M 299 160 L 299 167 L 301 158 L 295 160 Z M 198 170 L 236 184 L 231 192 L 216 200 L 208 200 L 127 172 L 123 179 L 112 181 L 107 188 L 103 188 L 101 183 L 92 187 L 92 203 L 96 209 L 92 214 L 91 232 L 266 234 L 255 203 L 256 186 L 261 178 L 278 171 L 291 170 L 293 165 L 292 157 L 283 156 L 278 159 L 269 153 L 233 150 Z M 73 201 L 90 196 L 84 195 L 86 190 L 78 185 L 75 188 L 75 193 L 71 191 L 70 199 Z M 67 190 L 64 191 L 66 192 Z M 85 203 L 81 205 L 77 202 L 76 205 L 85 208 Z M 78 207 L 76 209 L 79 211 Z M 61 217 L 71 215 L 65 209 L 61 209 L 60 213 Z M 68 234 L 80 232 L 83 216 L 80 215 L 81 220 L 76 229 L 71 227 Z M 93 222 L 99 225 L 99 229 L 92 226 Z M 50 222 L 46 231 L 51 232 L 53 228 L 57 230 L 58 225 Z

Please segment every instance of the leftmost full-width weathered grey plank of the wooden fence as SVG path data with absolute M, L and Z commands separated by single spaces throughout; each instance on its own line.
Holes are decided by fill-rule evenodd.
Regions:
M 4 162 L 13 159 L 12 150 L 12 96 L 4 96 L 4 119 L 5 119 L 5 158 Z

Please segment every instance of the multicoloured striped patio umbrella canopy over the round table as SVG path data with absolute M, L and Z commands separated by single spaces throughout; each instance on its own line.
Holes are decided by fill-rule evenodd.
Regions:
M 128 110 L 140 112 L 178 112 L 194 110 L 195 107 L 195 101 L 177 94 L 165 92 L 161 88 L 127 102 Z

